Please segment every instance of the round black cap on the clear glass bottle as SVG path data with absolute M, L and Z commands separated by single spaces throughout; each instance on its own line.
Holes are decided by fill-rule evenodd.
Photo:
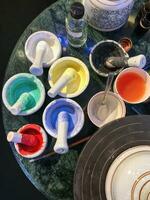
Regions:
M 75 19 L 81 19 L 84 16 L 84 6 L 80 2 L 71 5 L 70 14 Z

